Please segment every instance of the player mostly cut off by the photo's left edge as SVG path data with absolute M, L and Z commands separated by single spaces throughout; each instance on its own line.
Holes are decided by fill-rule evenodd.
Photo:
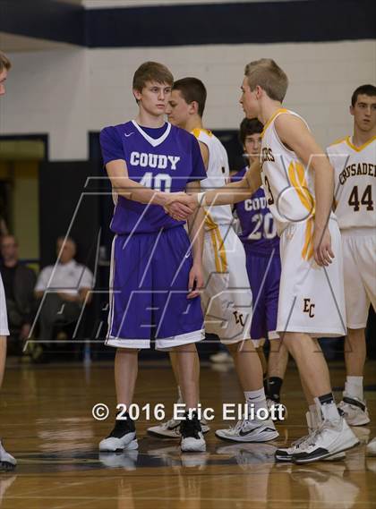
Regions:
M 5 94 L 5 80 L 12 64 L 10 60 L 0 52 L 0 96 Z M 9 335 L 8 318 L 6 316 L 6 303 L 3 281 L 0 276 L 0 386 L 3 385 L 5 359 L 6 359 L 6 336 Z M 13 470 L 17 462 L 12 454 L 5 451 L 0 440 L 0 470 Z

